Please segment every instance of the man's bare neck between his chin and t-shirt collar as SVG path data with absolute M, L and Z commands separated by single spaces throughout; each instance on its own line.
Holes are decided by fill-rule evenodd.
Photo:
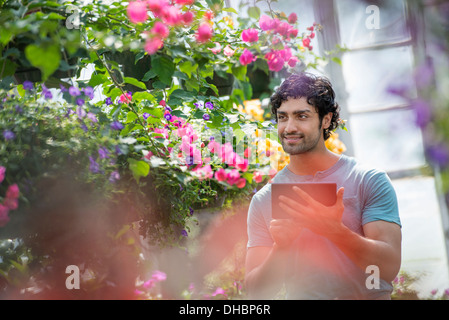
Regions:
M 288 169 L 297 175 L 315 175 L 332 167 L 340 156 L 329 150 L 317 150 L 297 155 L 290 155 Z

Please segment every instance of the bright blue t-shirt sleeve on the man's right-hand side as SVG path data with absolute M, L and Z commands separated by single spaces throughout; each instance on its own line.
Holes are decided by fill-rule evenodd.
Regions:
M 368 177 L 362 224 L 377 220 L 401 226 L 396 192 L 390 178 L 382 171 L 376 171 Z

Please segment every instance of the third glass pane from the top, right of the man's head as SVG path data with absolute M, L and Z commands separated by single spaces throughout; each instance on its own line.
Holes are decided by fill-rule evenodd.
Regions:
M 348 127 L 355 157 L 386 171 L 425 165 L 422 135 L 414 119 L 410 110 L 352 115 Z

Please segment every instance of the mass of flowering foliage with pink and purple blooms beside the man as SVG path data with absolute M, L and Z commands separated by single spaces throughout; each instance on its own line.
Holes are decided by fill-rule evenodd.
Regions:
M 111 284 L 135 297 L 141 238 L 182 245 L 195 210 L 248 201 L 288 163 L 268 114 L 241 107 L 251 74 L 270 91 L 324 60 L 319 25 L 300 32 L 295 15 L 253 5 L 238 18 L 219 0 L 0 7 L 0 291 L 13 297 L 108 296 Z M 67 296 L 70 264 L 87 289 Z

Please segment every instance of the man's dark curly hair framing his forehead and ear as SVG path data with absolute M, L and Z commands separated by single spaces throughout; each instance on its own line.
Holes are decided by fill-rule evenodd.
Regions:
M 335 101 L 335 92 L 330 81 L 322 76 L 311 73 L 293 74 L 281 84 L 270 99 L 271 113 L 277 121 L 277 109 L 288 98 L 306 98 L 307 103 L 314 106 L 318 112 L 320 126 L 323 117 L 332 112 L 332 120 L 329 128 L 323 129 L 324 140 L 327 140 L 331 132 L 339 126 L 340 107 Z

